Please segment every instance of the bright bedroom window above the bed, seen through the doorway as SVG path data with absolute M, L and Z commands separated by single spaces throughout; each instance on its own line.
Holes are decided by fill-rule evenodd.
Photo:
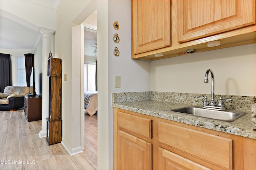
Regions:
M 84 91 L 96 91 L 96 63 L 84 64 Z

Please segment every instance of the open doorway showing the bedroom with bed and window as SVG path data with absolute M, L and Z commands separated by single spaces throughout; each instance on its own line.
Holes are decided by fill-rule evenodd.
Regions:
M 96 21 L 96 22 L 95 22 Z M 84 152 L 92 168 L 98 164 L 97 10 L 84 25 Z

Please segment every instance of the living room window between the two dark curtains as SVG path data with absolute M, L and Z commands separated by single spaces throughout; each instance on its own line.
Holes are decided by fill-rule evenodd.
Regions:
M 27 86 L 26 82 L 26 70 L 25 70 L 25 58 L 15 57 L 16 59 L 16 75 L 14 74 L 14 79 L 16 79 L 17 86 Z

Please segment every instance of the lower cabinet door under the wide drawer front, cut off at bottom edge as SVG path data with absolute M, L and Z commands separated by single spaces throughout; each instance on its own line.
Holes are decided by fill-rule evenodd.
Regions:
M 158 170 L 210 170 L 192 160 L 158 148 Z

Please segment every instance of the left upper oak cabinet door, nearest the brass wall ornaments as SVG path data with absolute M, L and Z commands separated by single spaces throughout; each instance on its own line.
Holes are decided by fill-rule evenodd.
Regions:
M 133 54 L 170 46 L 170 0 L 131 3 Z

